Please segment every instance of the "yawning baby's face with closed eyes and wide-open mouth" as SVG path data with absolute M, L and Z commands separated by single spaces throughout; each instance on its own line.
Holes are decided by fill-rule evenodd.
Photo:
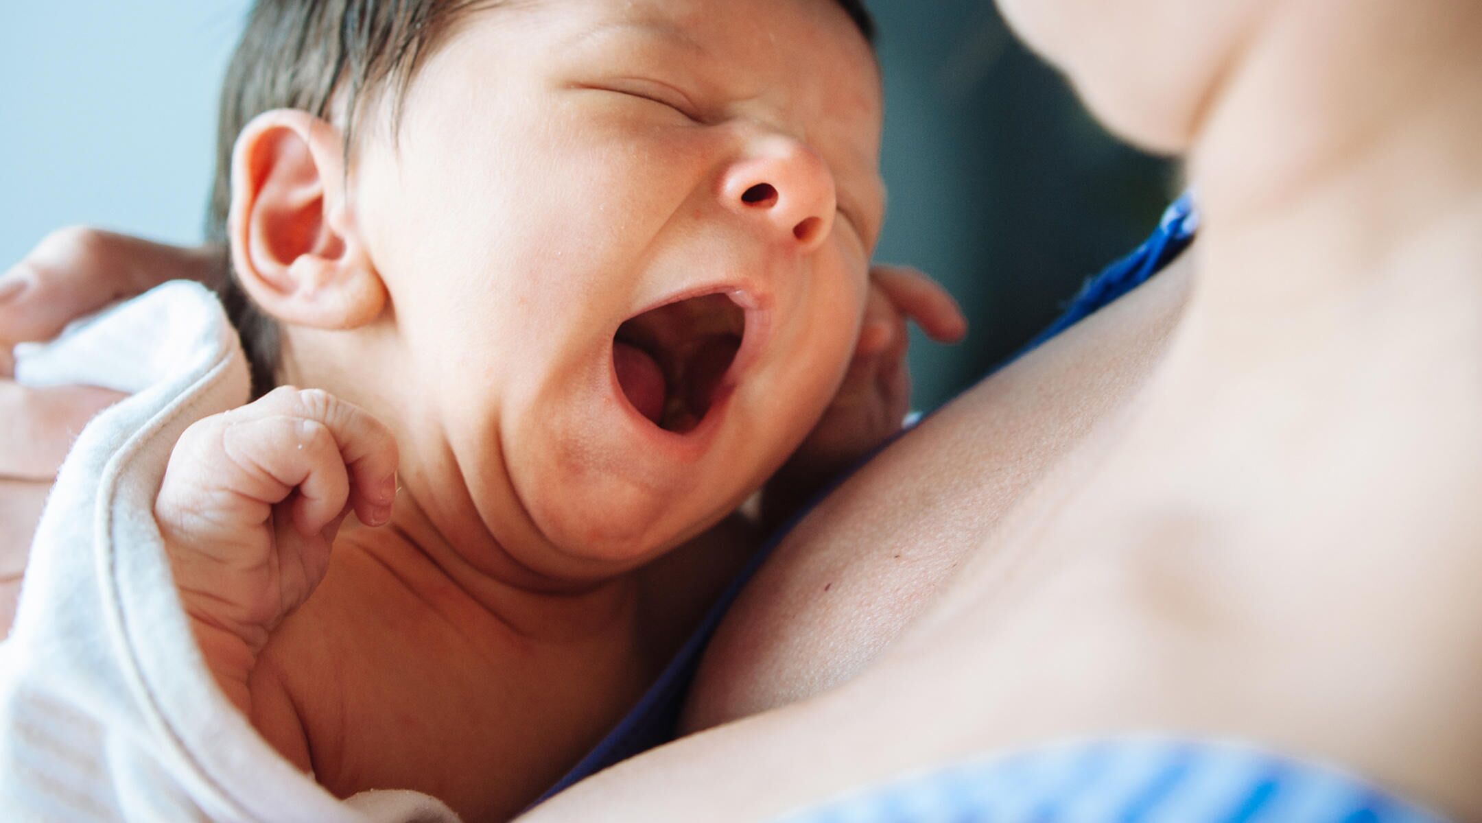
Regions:
M 353 172 L 434 521 L 600 573 L 759 487 L 854 351 L 880 107 L 833 0 L 473 15 Z

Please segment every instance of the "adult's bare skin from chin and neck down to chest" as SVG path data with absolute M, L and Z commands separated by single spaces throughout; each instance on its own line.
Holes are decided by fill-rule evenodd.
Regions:
M 851 478 L 711 644 L 713 728 L 531 820 L 754 820 L 1146 730 L 1482 816 L 1482 6 L 1005 6 L 1189 158 L 1193 256 Z

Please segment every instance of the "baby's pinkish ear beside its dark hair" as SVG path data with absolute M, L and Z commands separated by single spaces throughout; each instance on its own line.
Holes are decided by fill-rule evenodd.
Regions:
M 231 155 L 231 263 L 267 314 L 295 326 L 356 329 L 387 293 L 345 194 L 344 136 L 295 110 L 252 118 Z

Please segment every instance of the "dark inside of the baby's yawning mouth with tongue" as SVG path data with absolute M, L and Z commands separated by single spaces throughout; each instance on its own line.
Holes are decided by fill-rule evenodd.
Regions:
M 726 295 L 662 305 L 627 320 L 612 366 L 628 403 L 661 429 L 685 434 L 705 419 L 741 348 L 745 312 Z

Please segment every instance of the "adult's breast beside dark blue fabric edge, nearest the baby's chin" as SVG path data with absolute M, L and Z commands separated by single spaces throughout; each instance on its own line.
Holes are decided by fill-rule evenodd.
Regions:
M 685 725 L 793 703 L 865 669 L 963 562 L 990 551 L 1026 493 L 1055 483 L 1049 469 L 1138 392 L 1187 286 L 1189 263 L 1175 263 L 983 380 L 830 494 L 731 608 Z

